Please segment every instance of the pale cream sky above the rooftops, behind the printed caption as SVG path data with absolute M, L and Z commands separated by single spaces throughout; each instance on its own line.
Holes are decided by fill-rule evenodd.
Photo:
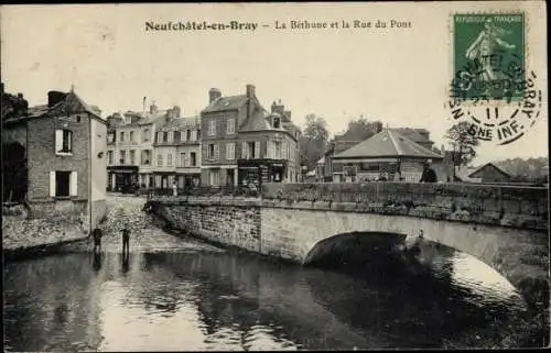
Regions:
M 325 118 L 329 133 L 364 114 L 390 128 L 424 128 L 440 147 L 453 125 L 446 107 L 452 77 L 453 13 L 526 11 L 528 65 L 547 97 L 543 2 L 236 3 L 2 5 L 1 73 L 6 90 L 31 106 L 48 90 L 75 92 L 102 110 L 161 109 L 185 117 L 223 96 L 256 86 L 264 108 L 281 99 L 303 125 Z M 375 27 L 380 20 L 387 27 Z M 402 23 L 390 27 L 391 21 Z M 255 31 L 145 31 L 145 23 L 259 23 Z M 276 29 L 276 21 L 287 29 Z M 339 23 L 338 29 L 290 29 L 291 21 Z M 342 22 L 350 24 L 343 29 Z M 354 21 L 371 27 L 354 27 Z M 263 26 L 267 24 L 268 26 Z M 548 157 L 547 101 L 537 122 L 509 145 L 478 147 L 476 163 Z

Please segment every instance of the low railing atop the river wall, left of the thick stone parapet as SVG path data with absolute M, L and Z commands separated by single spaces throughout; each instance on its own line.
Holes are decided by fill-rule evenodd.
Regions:
M 242 186 L 198 186 L 192 188 L 177 188 L 177 195 L 174 195 L 173 188 L 149 188 L 139 189 L 137 195 L 144 195 L 148 198 L 165 196 L 165 197 L 208 197 L 208 196 L 233 196 L 233 197 L 259 197 L 260 190 L 252 187 Z

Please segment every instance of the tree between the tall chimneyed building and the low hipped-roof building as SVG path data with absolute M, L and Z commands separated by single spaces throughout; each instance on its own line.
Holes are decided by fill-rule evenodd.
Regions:
M 315 114 L 306 115 L 306 123 L 300 141 L 301 165 L 309 169 L 315 167 L 315 163 L 323 156 L 327 145 L 329 133 L 327 122 Z

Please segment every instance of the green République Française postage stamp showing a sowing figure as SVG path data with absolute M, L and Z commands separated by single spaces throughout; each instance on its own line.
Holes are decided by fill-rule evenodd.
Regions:
M 526 75 L 525 14 L 453 14 L 452 96 L 519 100 Z

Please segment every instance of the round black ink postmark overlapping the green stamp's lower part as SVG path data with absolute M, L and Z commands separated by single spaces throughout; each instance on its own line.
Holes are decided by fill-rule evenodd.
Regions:
M 542 91 L 538 76 L 516 57 L 503 63 L 499 54 L 460 69 L 447 103 L 454 121 L 466 121 L 468 133 L 498 145 L 522 137 L 540 117 Z

